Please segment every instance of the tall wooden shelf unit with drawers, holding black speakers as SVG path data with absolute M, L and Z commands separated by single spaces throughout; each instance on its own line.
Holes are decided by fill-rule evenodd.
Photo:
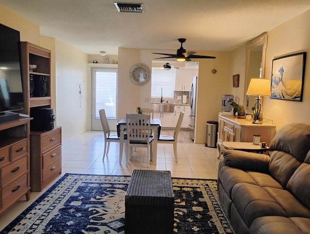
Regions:
M 32 108 L 51 108 L 51 54 L 50 50 L 29 42 L 21 42 L 22 72 L 24 82 L 24 114 L 31 115 Z M 29 65 L 37 68 L 30 71 Z M 34 88 L 39 92 L 31 93 L 30 77 L 42 77 Z M 32 81 L 33 82 L 33 81 Z M 40 86 L 41 85 L 41 86 Z M 31 122 L 37 119 L 31 120 Z M 30 123 L 31 127 L 31 123 Z M 62 128 L 51 131 L 30 132 L 30 186 L 31 191 L 42 189 L 62 173 Z

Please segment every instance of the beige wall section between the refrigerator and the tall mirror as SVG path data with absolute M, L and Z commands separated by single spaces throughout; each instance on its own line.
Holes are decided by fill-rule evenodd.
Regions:
M 216 56 L 216 59 L 197 59 L 199 62 L 195 143 L 206 143 L 206 122 L 217 121 L 223 94 L 230 94 L 233 86 L 232 52 L 196 51 L 197 54 Z M 217 73 L 213 74 L 213 69 Z

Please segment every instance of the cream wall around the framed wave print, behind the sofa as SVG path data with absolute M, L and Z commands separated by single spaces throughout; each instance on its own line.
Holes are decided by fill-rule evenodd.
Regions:
M 265 78 L 271 79 L 272 59 L 296 52 L 307 52 L 303 100 L 289 101 L 264 98 L 263 117 L 277 124 L 310 124 L 310 11 L 307 11 L 268 32 Z

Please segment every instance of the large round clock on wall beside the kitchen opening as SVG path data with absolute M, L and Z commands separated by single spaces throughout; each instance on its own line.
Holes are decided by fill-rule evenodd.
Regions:
M 147 84 L 151 79 L 151 70 L 145 64 L 136 64 L 131 67 L 129 77 L 136 85 Z

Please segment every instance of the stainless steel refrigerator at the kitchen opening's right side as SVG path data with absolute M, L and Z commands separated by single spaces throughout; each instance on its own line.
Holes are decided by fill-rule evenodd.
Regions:
M 196 125 L 196 99 L 197 98 L 197 77 L 193 77 L 192 85 L 189 91 L 189 105 L 190 105 L 190 123 L 188 128 L 190 129 L 189 136 L 192 140 L 195 140 L 195 125 Z

